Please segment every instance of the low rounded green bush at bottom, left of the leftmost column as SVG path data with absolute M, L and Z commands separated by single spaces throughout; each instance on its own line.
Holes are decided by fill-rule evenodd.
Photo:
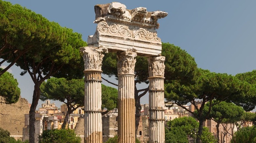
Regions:
M 52 129 L 43 131 L 39 136 L 39 143 L 80 143 L 81 138 L 71 129 Z

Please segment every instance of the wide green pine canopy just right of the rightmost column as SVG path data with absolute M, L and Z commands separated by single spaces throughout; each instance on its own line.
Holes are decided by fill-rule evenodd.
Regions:
M 165 97 L 168 101 L 186 104 L 200 99 L 205 102 L 223 100 L 242 90 L 243 82 L 226 73 L 197 70 L 195 84 L 183 85 L 180 80 L 165 84 Z

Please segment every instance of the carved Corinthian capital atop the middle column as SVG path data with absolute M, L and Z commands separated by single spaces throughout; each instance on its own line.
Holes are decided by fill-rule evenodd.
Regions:
M 134 74 L 134 68 L 137 54 L 135 52 L 126 51 L 117 55 L 117 71 L 118 74 Z

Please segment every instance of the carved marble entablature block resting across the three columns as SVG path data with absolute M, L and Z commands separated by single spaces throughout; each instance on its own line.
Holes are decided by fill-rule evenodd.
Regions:
M 167 16 L 163 11 L 147 11 L 139 7 L 112 2 L 96 5 L 96 32 L 88 37 L 88 46 L 108 48 L 110 52 L 136 50 L 138 56 L 159 56 L 161 39 L 157 36 L 157 20 Z

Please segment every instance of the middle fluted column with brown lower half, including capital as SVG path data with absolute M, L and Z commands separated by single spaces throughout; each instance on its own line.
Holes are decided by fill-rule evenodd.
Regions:
M 118 53 L 118 143 L 135 143 L 134 52 Z

